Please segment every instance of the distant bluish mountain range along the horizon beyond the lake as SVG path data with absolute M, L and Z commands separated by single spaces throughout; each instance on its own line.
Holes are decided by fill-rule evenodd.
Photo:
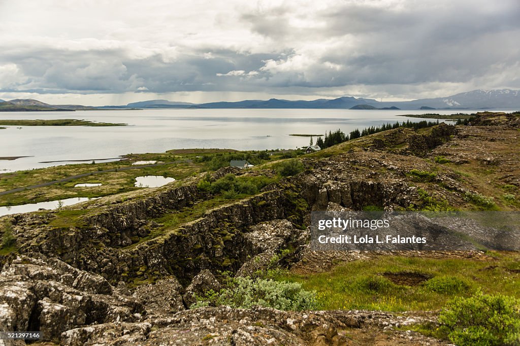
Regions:
M 48 104 L 33 99 L 0 100 L 0 111 L 75 111 L 103 109 L 388 109 L 388 110 L 433 110 L 433 109 L 520 109 L 520 90 L 473 90 L 461 94 L 419 99 L 412 101 L 377 101 L 352 96 L 337 99 L 317 99 L 313 101 L 289 101 L 280 99 L 244 100 L 238 102 L 189 103 L 168 100 L 132 102 L 127 105 L 106 105 L 101 107 L 77 104 Z

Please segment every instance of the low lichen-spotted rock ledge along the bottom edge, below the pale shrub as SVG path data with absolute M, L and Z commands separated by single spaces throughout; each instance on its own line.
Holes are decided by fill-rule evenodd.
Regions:
M 326 345 L 346 343 L 338 328 L 358 327 L 352 318 L 320 312 L 268 308 L 200 308 L 145 323 L 111 323 L 76 328 L 62 334 L 68 345 Z

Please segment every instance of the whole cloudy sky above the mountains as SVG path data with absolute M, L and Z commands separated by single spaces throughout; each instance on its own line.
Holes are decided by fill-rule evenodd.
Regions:
M 0 99 L 107 105 L 520 89 L 519 0 L 0 0 Z

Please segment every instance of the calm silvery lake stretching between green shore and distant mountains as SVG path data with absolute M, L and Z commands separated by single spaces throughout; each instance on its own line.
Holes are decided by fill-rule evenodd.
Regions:
M 412 120 L 398 114 L 428 112 L 452 114 L 457 111 L 179 109 L 2 112 L 0 119 L 72 118 L 130 126 L 7 126 L 7 129 L 0 129 L 0 156 L 30 157 L 0 160 L 0 173 L 74 163 L 42 163 L 44 161 L 98 161 L 128 153 L 170 149 L 295 149 L 307 145 L 309 138 L 290 134 L 324 134 L 338 128 L 348 133 L 356 128 L 361 130 L 387 122 Z

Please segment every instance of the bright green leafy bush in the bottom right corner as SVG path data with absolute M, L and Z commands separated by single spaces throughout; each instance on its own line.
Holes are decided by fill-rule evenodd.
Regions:
M 451 342 L 464 345 L 520 344 L 520 300 L 482 292 L 456 298 L 439 315 Z

